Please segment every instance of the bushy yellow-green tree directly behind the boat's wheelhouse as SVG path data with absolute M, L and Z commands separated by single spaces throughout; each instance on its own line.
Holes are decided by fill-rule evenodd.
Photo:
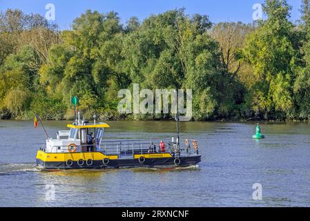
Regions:
M 113 91 L 130 84 L 122 65 L 123 35 L 117 13 L 86 11 L 73 21 L 72 30 L 62 32 L 64 43 L 50 48 L 48 64 L 40 70 L 41 83 L 68 107 L 68 95 L 88 94 L 99 106 L 108 106 L 106 94 L 113 99 Z

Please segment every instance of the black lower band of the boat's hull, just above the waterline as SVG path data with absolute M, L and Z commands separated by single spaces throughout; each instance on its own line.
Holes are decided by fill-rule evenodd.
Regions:
M 201 156 L 180 157 L 180 164 L 175 165 L 175 158 L 147 158 L 144 163 L 139 163 L 137 159 L 119 159 L 110 160 L 105 165 L 101 160 L 93 161 L 93 164 L 88 166 L 86 162 L 79 166 L 77 162 L 72 162 L 72 166 L 67 166 L 66 162 L 43 162 L 37 160 L 38 166 L 43 169 L 100 169 L 100 168 L 122 168 L 122 167 L 154 167 L 154 166 L 192 166 L 201 161 Z

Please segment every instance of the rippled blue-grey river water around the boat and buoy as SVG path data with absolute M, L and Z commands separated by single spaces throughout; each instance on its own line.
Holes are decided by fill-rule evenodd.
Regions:
M 50 135 L 70 122 L 44 122 Z M 108 139 L 168 138 L 175 122 L 108 122 Z M 310 206 L 310 125 L 182 122 L 198 140 L 202 162 L 186 169 L 42 172 L 45 143 L 33 122 L 0 121 L 0 206 Z M 262 200 L 253 200 L 253 184 Z M 54 192 L 51 192 L 53 191 Z

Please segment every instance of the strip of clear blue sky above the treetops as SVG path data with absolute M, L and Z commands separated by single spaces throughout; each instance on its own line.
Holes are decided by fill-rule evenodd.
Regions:
M 300 5 L 302 0 L 288 0 L 293 10 L 291 20 L 300 18 Z M 7 8 L 19 8 L 24 12 L 46 14 L 46 4 L 55 5 L 55 22 L 61 29 L 70 26 L 72 20 L 79 17 L 87 9 L 109 12 L 114 10 L 119 13 L 122 22 L 136 16 L 142 21 L 151 14 L 158 14 L 175 8 L 186 8 L 187 14 L 199 13 L 209 15 L 212 22 L 220 21 L 252 21 L 255 3 L 263 3 L 263 0 L 0 0 L 0 10 Z

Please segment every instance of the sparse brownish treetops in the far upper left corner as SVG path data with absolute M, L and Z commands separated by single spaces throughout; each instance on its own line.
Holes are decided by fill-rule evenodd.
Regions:
M 8 9 L 0 13 L 0 65 L 11 53 L 31 46 L 46 61 L 48 49 L 59 41 L 57 26 L 38 14 Z

